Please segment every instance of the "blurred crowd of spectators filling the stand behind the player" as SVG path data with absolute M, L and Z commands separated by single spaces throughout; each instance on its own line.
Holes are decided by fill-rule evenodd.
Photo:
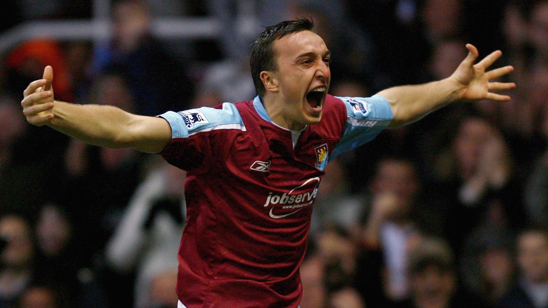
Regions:
M 5 3 L 25 21 L 90 18 L 93 1 Z M 8 10 L 6 11 L 8 12 Z M 210 17 L 215 39 L 160 40 L 159 16 Z M 0 308 L 175 307 L 185 172 L 25 122 L 27 84 L 141 115 L 252 100 L 262 26 L 311 16 L 330 94 L 448 77 L 503 50 L 510 102 L 456 102 L 327 167 L 300 272 L 301 308 L 548 307 L 548 1 L 112 1 L 106 42 L 14 46 L 0 63 Z M 282 308 L 282 307 L 281 307 Z

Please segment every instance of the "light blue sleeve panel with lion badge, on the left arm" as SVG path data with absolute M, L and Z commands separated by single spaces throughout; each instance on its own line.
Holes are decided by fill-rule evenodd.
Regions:
M 246 130 L 238 109 L 230 102 L 222 104 L 222 109 L 200 107 L 179 112 L 168 111 L 159 117 L 169 122 L 172 128 L 172 139 L 188 138 L 216 129 Z

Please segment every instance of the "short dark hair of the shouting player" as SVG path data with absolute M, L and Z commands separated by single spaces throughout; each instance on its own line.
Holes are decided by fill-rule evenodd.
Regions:
M 314 28 L 314 22 L 308 18 L 297 18 L 294 20 L 286 20 L 279 22 L 276 25 L 265 28 L 265 31 L 255 39 L 252 44 L 251 56 L 249 64 L 251 67 L 251 75 L 255 92 L 262 96 L 265 94 L 265 87 L 261 81 L 262 71 L 277 70 L 273 42 L 276 39 L 290 35 L 291 33 L 309 30 Z

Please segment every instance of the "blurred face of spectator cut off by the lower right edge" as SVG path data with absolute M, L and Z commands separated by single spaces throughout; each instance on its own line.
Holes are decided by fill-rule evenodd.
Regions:
M 517 259 L 528 281 L 548 282 L 548 238 L 543 233 L 528 232 L 520 236 Z

